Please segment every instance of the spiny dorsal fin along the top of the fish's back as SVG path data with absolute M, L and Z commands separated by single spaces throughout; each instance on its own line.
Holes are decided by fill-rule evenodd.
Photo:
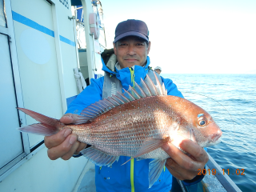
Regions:
M 156 84 L 154 84 L 156 82 Z M 124 89 L 123 89 L 124 90 Z M 159 82 L 155 72 L 154 81 L 146 74 L 145 80 L 141 78 L 141 82 L 135 82 L 134 87 L 129 86 L 128 90 L 124 90 L 123 94 L 117 92 L 111 97 L 104 98 L 98 102 L 94 102 L 82 110 L 81 115 L 78 117 L 76 124 L 89 122 L 99 115 L 106 113 L 116 106 L 120 106 L 126 102 L 131 102 L 140 98 L 147 98 L 157 95 L 167 95 L 167 90 L 164 83 Z

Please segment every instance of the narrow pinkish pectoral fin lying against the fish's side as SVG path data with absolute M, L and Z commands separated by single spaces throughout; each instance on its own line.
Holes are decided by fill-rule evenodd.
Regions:
M 138 153 L 135 154 L 134 157 L 130 158 L 127 162 L 130 162 L 131 159 L 133 158 L 138 158 L 139 156 L 142 156 L 143 154 L 148 154 L 153 150 L 158 149 L 159 147 L 161 147 L 163 144 L 165 144 L 166 142 L 169 142 L 170 138 L 166 137 L 166 138 L 149 138 L 147 139 L 145 142 L 142 143 L 142 147 L 140 150 L 138 150 Z M 125 163 L 123 163 L 122 165 L 125 165 Z

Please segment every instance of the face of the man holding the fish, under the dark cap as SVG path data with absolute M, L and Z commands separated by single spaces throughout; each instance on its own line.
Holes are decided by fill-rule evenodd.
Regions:
M 122 38 L 117 42 L 117 46 L 114 44 L 114 54 L 116 54 L 121 68 L 143 66 L 149 52 L 150 42 L 147 46 L 142 38 L 134 36 Z

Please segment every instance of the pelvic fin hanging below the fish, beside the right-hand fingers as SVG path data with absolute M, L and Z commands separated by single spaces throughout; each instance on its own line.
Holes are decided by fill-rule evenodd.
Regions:
M 163 167 L 166 165 L 166 159 L 154 159 L 150 162 L 150 169 L 149 169 L 149 182 L 150 186 L 154 185 L 154 182 L 158 180 L 160 174 L 162 173 Z

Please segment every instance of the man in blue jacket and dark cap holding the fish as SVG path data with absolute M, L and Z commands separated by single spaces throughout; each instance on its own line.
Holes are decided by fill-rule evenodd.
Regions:
M 112 85 L 119 83 L 114 90 L 122 88 L 127 90 L 129 85 L 134 86 L 134 82 L 139 83 L 140 78 L 150 74 L 150 58 L 147 54 L 150 52 L 151 43 L 148 34 L 145 22 L 130 19 L 118 24 L 113 43 L 114 55 L 106 65 L 103 62 L 102 70 L 106 71 L 106 75 L 91 79 L 90 86 L 87 86 L 70 104 L 61 122 L 66 124 L 76 122 L 78 114 L 86 106 L 112 94 L 113 90 L 110 89 Z M 161 81 L 165 83 L 168 94 L 183 97 L 170 79 L 161 77 Z M 71 134 L 69 129 L 46 137 L 45 144 L 49 149 L 48 156 L 52 160 L 57 158 L 67 160 L 86 147 L 86 143 L 78 142 L 77 135 Z M 172 175 L 180 180 L 186 180 L 184 181 L 186 185 L 199 182 L 202 178 L 197 176 L 198 169 L 203 169 L 208 161 L 206 151 L 190 140 L 181 142 L 179 146 L 191 156 L 183 154 L 171 143 L 162 146 L 162 149 L 170 155 L 166 161 L 167 169 L 162 170 L 159 180 L 150 189 L 148 189 L 148 174 L 151 160 L 134 160 L 121 166 L 130 158 L 121 156 L 112 167 L 95 167 L 97 191 L 170 191 Z

